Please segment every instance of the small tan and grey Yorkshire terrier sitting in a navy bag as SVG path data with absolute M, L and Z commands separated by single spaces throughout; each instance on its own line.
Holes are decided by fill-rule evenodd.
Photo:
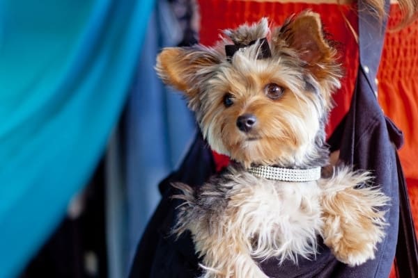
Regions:
M 173 232 L 191 232 L 202 277 L 267 277 L 257 260 L 314 259 L 318 236 L 348 265 L 374 258 L 389 198 L 369 172 L 339 165 L 321 177 L 342 75 L 333 45 L 306 11 L 271 33 L 261 19 L 225 30 L 215 47 L 158 56 L 164 83 L 184 92 L 210 147 L 233 161 L 200 188 L 173 185 L 184 200 Z

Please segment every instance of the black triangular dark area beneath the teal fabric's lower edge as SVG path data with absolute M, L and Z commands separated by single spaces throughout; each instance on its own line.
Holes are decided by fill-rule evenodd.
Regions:
M 104 170 L 102 160 L 82 193 L 82 213 L 75 219 L 63 219 L 20 278 L 107 277 Z M 93 268 L 86 267 L 86 254 L 95 259 Z

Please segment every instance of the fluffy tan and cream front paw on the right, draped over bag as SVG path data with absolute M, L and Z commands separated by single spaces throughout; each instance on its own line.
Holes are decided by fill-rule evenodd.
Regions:
M 323 184 L 324 243 L 336 259 L 352 266 L 374 259 L 376 245 L 385 236 L 382 206 L 389 198 L 378 188 L 357 188 L 369 180 L 367 172 L 345 168 Z

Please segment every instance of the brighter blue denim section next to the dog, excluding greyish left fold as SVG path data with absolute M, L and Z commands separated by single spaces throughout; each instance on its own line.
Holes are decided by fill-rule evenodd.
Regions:
M 150 17 L 139 68 L 127 102 L 125 165 L 127 192 L 127 262 L 160 201 L 157 184 L 187 149 L 194 134 L 194 117 L 180 93 L 165 87 L 154 67 L 162 47 L 183 38 L 167 1 L 156 1 Z

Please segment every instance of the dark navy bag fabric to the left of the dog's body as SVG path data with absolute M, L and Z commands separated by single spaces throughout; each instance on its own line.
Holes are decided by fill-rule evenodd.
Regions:
M 176 220 L 175 208 L 179 201 L 171 199 L 175 193 L 173 181 L 182 181 L 190 186 L 200 186 L 215 173 L 212 153 L 200 133 L 176 172 L 159 185 L 162 200 L 141 238 L 134 256 L 129 277 L 196 277 L 200 270 L 198 259 L 189 234 L 178 240 L 170 236 Z

